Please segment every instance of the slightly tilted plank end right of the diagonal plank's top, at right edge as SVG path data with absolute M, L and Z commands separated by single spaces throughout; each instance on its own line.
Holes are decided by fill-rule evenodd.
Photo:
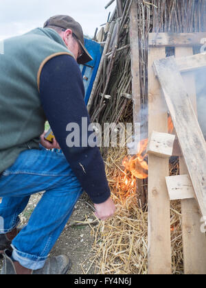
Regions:
M 176 58 L 176 64 L 181 72 L 193 71 L 206 67 L 206 53 Z

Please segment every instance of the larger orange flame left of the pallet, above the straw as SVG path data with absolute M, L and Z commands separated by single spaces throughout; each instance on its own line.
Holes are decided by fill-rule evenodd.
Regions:
M 130 171 L 130 173 L 138 179 L 148 178 L 148 163 L 146 163 L 146 156 L 144 154 L 146 147 L 148 145 L 148 139 L 144 139 L 139 142 L 138 153 L 135 156 L 126 156 L 122 161 L 122 165 L 125 167 L 125 172 Z M 126 178 L 128 181 L 128 178 Z M 125 180 L 125 183 L 126 183 Z

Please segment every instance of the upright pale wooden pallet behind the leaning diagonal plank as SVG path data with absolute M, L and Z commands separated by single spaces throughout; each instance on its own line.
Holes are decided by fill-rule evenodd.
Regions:
M 176 63 L 183 74 L 187 94 L 196 111 L 194 57 L 192 47 L 200 45 L 204 33 L 150 34 L 148 56 L 148 132 L 168 132 L 168 105 L 165 102 L 153 63 L 165 58 L 165 47 L 175 47 Z M 191 56 L 185 62 L 185 56 Z M 201 56 L 203 60 L 204 56 Z M 179 59 L 180 58 L 180 59 Z M 193 61 L 193 62 L 192 62 Z M 196 61 L 196 68 L 200 62 Z M 193 68 L 192 68 L 193 67 Z M 171 274 L 170 197 L 165 183 L 169 176 L 169 159 L 154 154 L 148 156 L 148 273 Z M 187 174 L 183 157 L 180 159 L 181 174 Z M 183 257 L 185 274 L 206 274 L 206 238 L 201 232 L 201 213 L 194 199 L 181 200 Z

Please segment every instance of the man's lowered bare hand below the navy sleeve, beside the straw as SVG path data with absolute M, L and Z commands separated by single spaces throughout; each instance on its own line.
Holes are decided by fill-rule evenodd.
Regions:
M 101 204 L 94 204 L 95 206 L 95 215 L 101 220 L 106 220 L 109 217 L 113 216 L 115 213 L 116 207 L 111 199 L 111 197 L 108 198 L 105 202 Z

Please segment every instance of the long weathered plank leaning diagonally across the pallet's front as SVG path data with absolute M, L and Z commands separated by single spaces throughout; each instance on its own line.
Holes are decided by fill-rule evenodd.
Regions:
M 170 110 L 190 178 L 203 216 L 206 216 L 206 145 L 173 57 L 154 62 Z

